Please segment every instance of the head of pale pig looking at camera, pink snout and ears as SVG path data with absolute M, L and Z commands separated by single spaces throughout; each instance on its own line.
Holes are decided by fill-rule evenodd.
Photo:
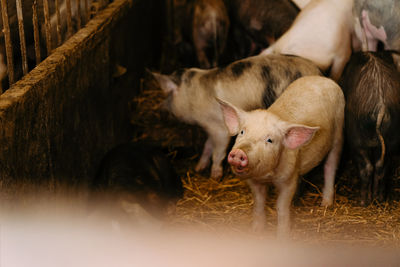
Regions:
M 243 179 L 274 178 L 282 163 L 282 154 L 296 153 L 319 129 L 286 122 L 268 110 L 245 112 L 218 101 L 229 133 L 237 135 L 228 162 L 233 172 Z

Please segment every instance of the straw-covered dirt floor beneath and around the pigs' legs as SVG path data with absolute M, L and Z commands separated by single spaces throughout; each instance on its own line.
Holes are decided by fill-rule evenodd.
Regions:
M 267 205 L 265 233 L 251 233 L 253 200 L 245 181 L 234 177 L 225 164 L 224 177 L 208 178 L 208 171 L 198 174 L 194 166 L 204 142 L 197 127 L 178 122 L 162 109 L 163 94 L 147 77 L 140 94 L 133 99 L 132 125 L 137 140 L 146 139 L 168 147 L 181 175 L 185 194 L 178 202 L 174 225 L 196 225 L 211 231 L 225 228 L 257 237 L 273 237 L 276 230 L 275 192 L 271 186 Z M 344 165 L 344 164 L 342 164 Z M 391 200 L 358 204 L 358 180 L 351 164 L 341 167 L 336 178 L 333 207 L 320 207 L 323 175 L 321 168 L 302 178 L 292 206 L 292 238 L 306 243 L 346 243 L 377 246 L 400 246 L 400 203 Z M 397 175 L 398 176 L 398 175 Z M 398 177 L 396 178 L 398 179 Z M 397 193 L 397 189 L 394 189 Z

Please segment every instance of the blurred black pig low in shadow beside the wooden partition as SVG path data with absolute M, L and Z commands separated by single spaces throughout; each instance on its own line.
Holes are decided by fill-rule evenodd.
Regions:
M 93 210 L 109 208 L 115 221 L 155 222 L 183 196 L 182 181 L 160 148 L 130 142 L 111 149 L 101 160 L 90 186 Z M 142 223 L 143 220 L 145 223 Z

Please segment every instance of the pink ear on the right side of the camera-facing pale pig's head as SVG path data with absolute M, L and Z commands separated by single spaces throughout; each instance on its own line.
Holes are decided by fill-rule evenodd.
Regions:
M 285 132 L 283 144 L 289 149 L 296 149 L 308 144 L 319 127 L 309 127 L 301 124 L 290 125 Z

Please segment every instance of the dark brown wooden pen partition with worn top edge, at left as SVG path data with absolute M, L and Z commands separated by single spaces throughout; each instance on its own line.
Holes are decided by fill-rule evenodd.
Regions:
M 105 151 L 129 139 L 128 102 L 157 55 L 149 43 L 162 22 L 149 13 L 161 2 L 114 0 L 0 96 L 3 186 L 88 181 Z M 113 78 L 117 63 L 128 73 Z

